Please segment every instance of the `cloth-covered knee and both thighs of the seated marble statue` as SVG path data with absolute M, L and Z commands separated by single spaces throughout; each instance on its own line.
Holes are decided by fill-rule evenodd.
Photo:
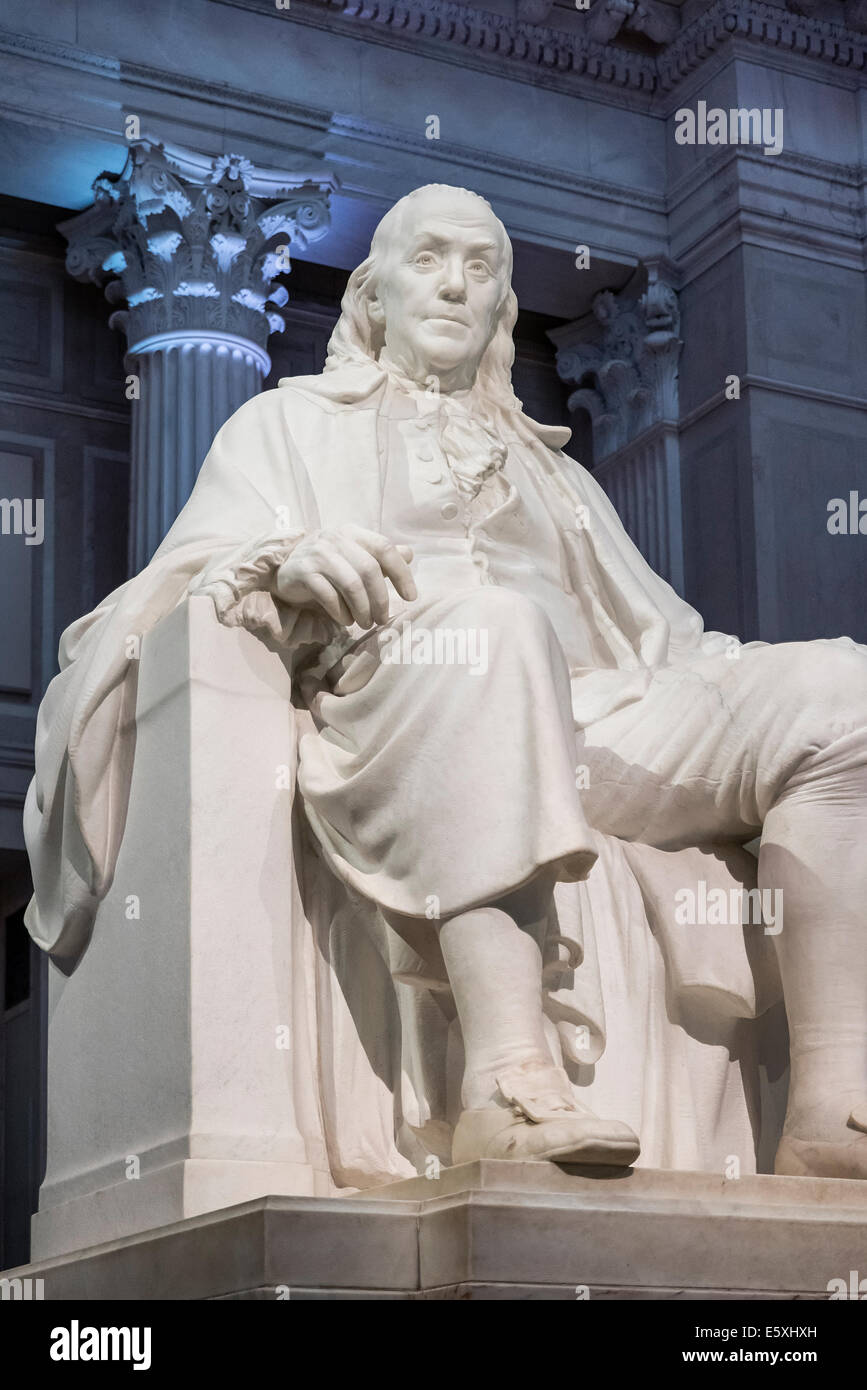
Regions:
M 546 865 L 586 877 L 589 827 L 674 849 L 749 840 L 781 801 L 867 809 L 867 653 L 848 638 L 661 669 L 578 733 L 559 638 L 514 591 L 420 599 L 343 667 L 308 698 L 304 809 L 333 872 L 410 916 Z

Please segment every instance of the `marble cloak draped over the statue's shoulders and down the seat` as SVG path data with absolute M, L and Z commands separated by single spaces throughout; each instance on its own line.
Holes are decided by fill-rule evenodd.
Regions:
M 275 644 L 290 670 L 310 653 L 321 669 L 339 657 L 345 630 L 290 609 L 268 584 L 310 531 L 350 521 L 379 530 L 385 384 L 378 363 L 352 364 L 285 379 L 242 406 L 150 564 L 63 634 L 25 803 L 35 884 L 25 920 L 64 972 L 99 931 L 124 835 L 136 742 L 131 657 L 140 638 L 190 595 L 208 594 L 222 623 Z M 602 488 L 560 452 L 568 430 L 518 409 L 499 410 L 496 424 L 557 525 L 563 587 L 593 634 L 593 666 L 570 670 L 577 730 L 639 701 L 659 667 L 739 645 L 706 632 L 647 566 Z M 290 717 L 299 733 L 311 731 L 302 706 Z M 735 845 L 666 852 L 595 838 L 589 877 L 556 888 L 545 969 L 552 1048 L 600 1113 L 641 1133 L 641 1162 L 720 1169 L 736 1152 L 750 1170 L 757 1054 L 746 1020 L 779 998 L 773 944 L 739 926 L 674 931 L 671 897 L 672 884 L 697 880 L 709 892 L 754 887 L 754 859 Z M 333 1027 L 311 1063 L 332 1180 L 361 1187 L 410 1176 L 428 1152 L 447 1156 L 459 1109 L 460 1034 L 447 983 L 321 860 L 306 862 L 304 880 L 304 920 L 292 930 L 317 942 L 311 990 L 320 1029 Z M 385 1086 L 353 1022 L 353 958 L 381 969 L 381 1027 L 399 1038 Z M 339 1094 L 346 1076 L 352 1094 Z

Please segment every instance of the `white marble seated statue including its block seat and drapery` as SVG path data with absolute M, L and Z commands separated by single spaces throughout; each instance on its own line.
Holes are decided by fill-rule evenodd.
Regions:
M 151 564 L 64 634 L 25 813 L 28 927 L 68 972 L 42 1250 L 89 1193 L 133 1230 L 432 1156 L 625 1168 L 641 1141 L 746 1175 L 781 979 L 777 1170 L 867 1173 L 867 652 L 704 631 L 521 410 L 510 275 L 477 195 L 402 200 L 327 371 L 243 406 Z M 420 442 L 395 402 L 431 400 Z M 479 624 L 484 670 L 377 660 L 429 613 Z M 752 885 L 759 826 L 785 930 L 681 919 L 696 863 Z M 181 1209 L 149 1208 L 178 1162 Z

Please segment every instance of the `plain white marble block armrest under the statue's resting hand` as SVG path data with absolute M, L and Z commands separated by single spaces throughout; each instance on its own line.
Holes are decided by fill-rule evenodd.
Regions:
M 289 688 L 281 659 L 221 627 L 208 598 L 142 644 L 114 884 L 79 969 L 50 967 L 33 1258 L 332 1191 L 296 1119 L 297 1049 L 279 1045 L 293 1017 L 292 826 L 275 776 L 293 759 Z

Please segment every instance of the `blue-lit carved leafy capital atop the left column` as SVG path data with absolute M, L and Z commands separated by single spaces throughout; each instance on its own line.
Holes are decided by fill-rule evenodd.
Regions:
M 218 332 L 264 348 L 282 332 L 278 275 L 290 245 L 329 225 L 332 175 L 260 170 L 239 154 L 207 158 L 133 140 L 119 174 L 100 174 L 93 206 L 60 224 L 75 279 L 106 285 L 133 346 L 157 334 Z

